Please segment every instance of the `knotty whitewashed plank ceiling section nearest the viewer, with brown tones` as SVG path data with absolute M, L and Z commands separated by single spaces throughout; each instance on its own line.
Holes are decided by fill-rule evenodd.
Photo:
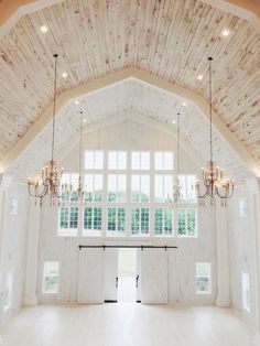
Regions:
M 42 24 L 48 28 L 45 34 Z M 229 36 L 223 37 L 224 29 Z M 0 32 L 0 160 L 52 102 L 53 52 L 59 53 L 59 72 L 68 74 L 65 79 L 59 75 L 59 94 L 134 67 L 205 98 L 207 56 L 213 55 L 214 108 L 260 160 L 259 33 L 198 0 L 66 0 Z M 128 106 L 123 99 L 121 109 Z M 149 109 L 151 99 L 147 102 Z M 97 118 L 100 113 L 95 110 Z

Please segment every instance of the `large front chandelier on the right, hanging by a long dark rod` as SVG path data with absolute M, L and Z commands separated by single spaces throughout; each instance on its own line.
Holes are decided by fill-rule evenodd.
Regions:
M 226 206 L 227 199 L 232 196 L 234 181 L 224 176 L 223 170 L 220 170 L 213 159 L 213 101 L 212 101 L 212 61 L 213 57 L 208 57 L 208 74 L 209 74 L 209 116 L 210 116 L 210 133 L 209 133 L 209 150 L 210 158 L 206 164 L 206 167 L 202 170 L 202 185 L 205 187 L 205 192 L 201 193 L 199 181 L 195 182 L 195 190 L 199 206 L 205 206 L 206 198 L 209 198 L 210 205 L 215 204 L 216 197 L 220 198 L 220 205 Z

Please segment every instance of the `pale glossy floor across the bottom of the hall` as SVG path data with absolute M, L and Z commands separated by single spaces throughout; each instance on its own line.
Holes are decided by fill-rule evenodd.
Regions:
M 141 304 L 36 306 L 0 329 L 4 346 L 250 346 L 230 310 Z

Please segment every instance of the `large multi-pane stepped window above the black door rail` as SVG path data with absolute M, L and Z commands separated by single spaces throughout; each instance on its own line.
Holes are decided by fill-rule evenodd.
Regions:
M 58 236 L 197 236 L 195 175 L 180 175 L 183 203 L 172 207 L 173 152 L 87 150 L 84 167 L 85 204 L 64 202 Z M 62 183 L 76 177 L 65 173 Z

